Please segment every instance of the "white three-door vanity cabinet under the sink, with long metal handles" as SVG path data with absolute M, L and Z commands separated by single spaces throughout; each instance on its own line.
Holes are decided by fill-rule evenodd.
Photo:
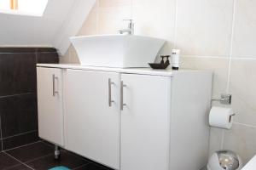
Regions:
M 38 73 L 54 68 L 63 72 L 64 116 L 39 116 L 39 131 L 64 118 L 67 150 L 118 170 L 198 170 L 207 164 L 211 71 L 38 65 Z M 53 97 L 49 92 L 38 98 L 44 107 Z

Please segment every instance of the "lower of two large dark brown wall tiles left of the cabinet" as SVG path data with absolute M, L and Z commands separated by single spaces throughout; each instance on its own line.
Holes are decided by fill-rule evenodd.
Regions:
M 36 94 L 21 94 L 0 98 L 2 137 L 38 129 Z

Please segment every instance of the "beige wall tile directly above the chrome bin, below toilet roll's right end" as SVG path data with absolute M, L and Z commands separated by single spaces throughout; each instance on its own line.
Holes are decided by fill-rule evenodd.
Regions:
M 256 128 L 233 124 L 229 131 L 225 131 L 224 149 L 233 150 L 244 163 L 256 154 Z

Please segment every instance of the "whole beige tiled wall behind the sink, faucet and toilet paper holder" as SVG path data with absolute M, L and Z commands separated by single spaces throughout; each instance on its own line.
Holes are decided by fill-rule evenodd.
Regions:
M 210 152 L 230 149 L 248 161 L 256 154 L 255 7 L 256 0 L 97 0 L 79 35 L 116 33 L 132 18 L 136 34 L 168 40 L 162 54 L 181 48 L 183 68 L 214 71 L 213 97 L 233 94 L 237 116 L 230 131 L 212 128 Z M 72 47 L 61 62 L 79 63 Z

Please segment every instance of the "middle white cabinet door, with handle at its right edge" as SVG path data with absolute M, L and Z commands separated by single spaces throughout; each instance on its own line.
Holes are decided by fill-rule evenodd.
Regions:
M 119 74 L 67 70 L 67 149 L 119 169 Z

